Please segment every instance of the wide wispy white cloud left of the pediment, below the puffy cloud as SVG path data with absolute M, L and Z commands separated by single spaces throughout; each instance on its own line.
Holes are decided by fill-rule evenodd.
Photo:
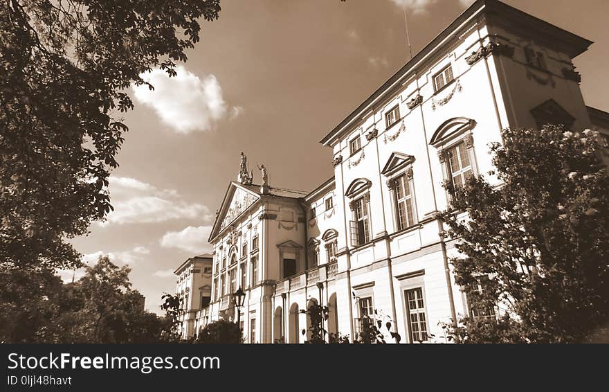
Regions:
M 209 208 L 203 204 L 185 202 L 174 189 L 158 189 L 129 177 L 111 176 L 109 181 L 114 211 L 107 215 L 106 222 L 101 222 L 100 226 L 175 219 L 212 220 Z

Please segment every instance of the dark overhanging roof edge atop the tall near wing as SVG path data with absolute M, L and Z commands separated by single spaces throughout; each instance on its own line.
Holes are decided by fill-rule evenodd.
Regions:
M 405 78 L 407 75 L 414 73 L 417 66 L 430 55 L 430 53 L 436 51 L 438 46 L 444 43 L 450 35 L 459 30 L 462 24 L 468 21 L 471 17 L 474 17 L 479 12 L 483 12 L 486 15 L 495 17 L 493 21 L 502 24 L 508 24 L 515 30 L 524 30 L 533 28 L 536 31 L 545 33 L 547 39 L 546 44 L 554 47 L 561 47 L 567 54 L 572 58 L 580 55 L 588 49 L 588 46 L 592 44 L 592 41 L 579 37 L 573 33 L 563 30 L 553 24 L 547 23 L 542 19 L 538 19 L 532 15 L 522 12 L 516 8 L 508 6 L 498 0 L 477 0 L 467 10 L 465 10 L 457 19 L 455 19 L 448 27 L 442 30 L 427 46 L 425 46 L 415 57 L 412 57 L 399 71 L 394 73 L 379 89 L 376 89 L 370 97 L 368 97 L 361 105 L 359 105 L 349 116 L 343 121 L 338 123 L 329 134 L 327 134 L 320 143 L 322 145 L 329 145 L 330 141 L 335 139 L 336 136 L 340 135 L 345 127 L 350 125 L 353 121 L 361 119 L 365 114 L 365 111 L 370 111 L 370 106 L 373 105 L 377 100 L 383 98 L 385 94 L 390 93 L 392 89 L 401 87 L 398 82 Z M 539 38 L 539 37 L 538 37 Z

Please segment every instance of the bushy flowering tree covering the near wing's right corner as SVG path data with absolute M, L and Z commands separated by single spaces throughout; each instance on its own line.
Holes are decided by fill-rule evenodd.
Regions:
M 466 317 L 456 337 L 583 341 L 609 317 L 609 177 L 598 134 L 547 125 L 502 139 L 491 144 L 489 173 L 500 186 L 486 177 L 446 184 L 451 209 L 441 217 L 462 255 L 451 262 L 470 316 L 498 305 L 505 314 Z

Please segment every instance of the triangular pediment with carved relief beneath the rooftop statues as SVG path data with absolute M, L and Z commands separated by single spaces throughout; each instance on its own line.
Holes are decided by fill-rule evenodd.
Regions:
M 227 226 L 237 221 L 258 200 L 260 200 L 260 195 L 257 193 L 234 181 L 231 182 L 216 216 L 209 238 L 210 242 Z

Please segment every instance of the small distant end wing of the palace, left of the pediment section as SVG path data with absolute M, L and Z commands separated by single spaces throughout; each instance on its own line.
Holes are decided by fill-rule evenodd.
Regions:
M 212 292 L 212 260 L 208 253 L 186 259 L 174 271 L 178 277 L 176 293 L 184 314 L 181 315 L 180 333 L 184 339 L 197 335 L 199 323 L 206 323 L 200 310 L 208 308 Z M 202 319 L 202 320 L 201 320 Z

